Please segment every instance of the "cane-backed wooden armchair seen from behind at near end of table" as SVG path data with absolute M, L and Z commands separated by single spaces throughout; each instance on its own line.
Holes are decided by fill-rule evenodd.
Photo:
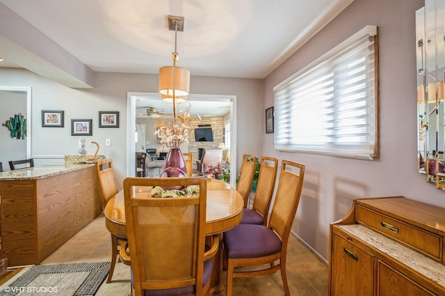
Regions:
M 191 197 L 147 197 L 133 190 L 134 186 L 192 185 L 200 190 Z M 206 179 L 127 178 L 124 202 L 128 243 L 124 242 L 120 255 L 131 262 L 133 295 L 207 294 L 219 242 L 213 238 L 209 251 L 204 251 Z

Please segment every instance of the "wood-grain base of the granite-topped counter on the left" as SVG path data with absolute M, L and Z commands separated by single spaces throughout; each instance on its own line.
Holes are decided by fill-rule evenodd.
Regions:
M 38 264 L 102 213 L 95 167 L 1 180 L 1 258 Z

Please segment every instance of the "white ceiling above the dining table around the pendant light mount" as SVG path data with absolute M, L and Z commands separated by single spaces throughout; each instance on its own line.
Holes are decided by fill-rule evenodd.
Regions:
M 167 16 L 176 15 L 185 18 L 179 67 L 264 79 L 353 0 L 0 1 L 95 72 L 158 74 L 172 65 Z

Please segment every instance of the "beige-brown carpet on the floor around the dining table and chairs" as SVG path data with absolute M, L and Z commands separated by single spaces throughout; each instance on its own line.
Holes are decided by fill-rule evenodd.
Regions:
M 42 264 L 111 261 L 111 236 L 105 227 L 104 215 L 88 224 Z M 327 266 L 298 238 L 291 234 L 287 251 L 287 279 L 291 295 L 326 295 Z M 127 296 L 131 293 L 130 268 L 116 263 L 111 283 L 102 283 L 99 296 Z M 54 294 L 52 294 L 54 295 Z M 218 296 L 225 295 L 221 292 Z M 284 295 L 281 273 L 261 277 L 234 279 L 234 295 Z

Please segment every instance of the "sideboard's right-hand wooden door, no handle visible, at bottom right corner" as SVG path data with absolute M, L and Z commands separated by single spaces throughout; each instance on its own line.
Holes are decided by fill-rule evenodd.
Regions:
M 394 270 L 382 261 L 378 261 L 377 267 L 377 291 L 379 296 L 403 295 L 423 296 L 434 295 L 423 287 L 417 285 L 403 274 Z

